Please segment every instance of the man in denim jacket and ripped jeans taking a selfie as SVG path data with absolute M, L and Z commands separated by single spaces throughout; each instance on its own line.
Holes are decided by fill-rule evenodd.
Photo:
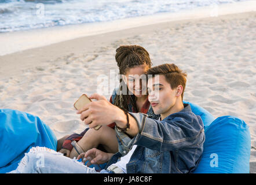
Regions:
M 148 93 L 155 114 L 160 120 L 149 119 L 147 114 L 127 113 L 112 105 L 101 95 L 90 98 L 97 101 L 79 110 L 81 119 L 90 128 L 115 122 L 119 152 L 104 153 L 97 149 L 88 150 L 78 158 L 91 158 L 89 164 L 108 162 L 101 173 L 189 173 L 198 166 L 203 152 L 204 129 L 200 116 L 192 113 L 188 104 L 182 103 L 186 75 L 174 64 L 163 64 L 148 71 Z M 16 172 L 61 172 L 70 166 L 70 173 L 97 173 L 70 158 L 49 157 L 44 160 L 51 166 L 38 167 L 38 154 L 28 153 L 25 162 Z M 122 157 L 123 156 L 123 157 Z M 120 158 L 120 160 L 118 160 Z M 30 159 L 28 159 L 30 158 Z M 60 162 L 61 161 L 61 162 Z M 65 161 L 65 162 L 64 162 Z M 24 164 L 24 162 L 21 162 Z M 25 169 L 25 170 L 24 170 Z

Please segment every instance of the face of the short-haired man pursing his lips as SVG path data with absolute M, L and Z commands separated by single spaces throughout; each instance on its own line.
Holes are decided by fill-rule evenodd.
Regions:
M 163 75 L 148 79 L 148 100 L 155 114 L 164 114 L 175 105 L 177 88 L 171 89 Z

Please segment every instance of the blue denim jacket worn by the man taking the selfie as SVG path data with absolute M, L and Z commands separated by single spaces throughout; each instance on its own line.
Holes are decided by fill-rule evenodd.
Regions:
M 117 129 L 119 152 L 108 162 L 114 164 L 137 145 L 126 165 L 127 173 L 189 173 L 199 164 L 203 153 L 204 129 L 200 116 L 188 104 L 180 112 L 162 121 L 144 113 L 131 113 L 137 121 L 139 133 L 130 138 Z

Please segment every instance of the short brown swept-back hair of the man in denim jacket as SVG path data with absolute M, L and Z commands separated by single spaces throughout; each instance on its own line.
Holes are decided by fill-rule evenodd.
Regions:
M 181 99 L 183 99 L 184 90 L 186 87 L 186 73 L 182 72 L 180 68 L 178 68 L 175 64 L 162 64 L 155 66 L 148 70 L 147 74 L 152 75 L 164 75 L 166 81 L 171 85 L 171 89 L 174 89 L 181 85 L 183 87 L 183 91 L 181 94 Z

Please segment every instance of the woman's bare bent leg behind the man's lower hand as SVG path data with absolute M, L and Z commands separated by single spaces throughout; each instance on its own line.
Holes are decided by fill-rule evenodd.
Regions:
M 118 140 L 116 139 L 115 130 L 102 126 L 100 129 L 89 129 L 83 138 L 79 140 L 78 145 L 82 147 L 83 151 L 97 148 L 98 145 L 103 145 L 108 153 L 116 153 L 118 151 Z M 70 158 L 78 157 L 78 153 L 73 148 L 70 152 Z

